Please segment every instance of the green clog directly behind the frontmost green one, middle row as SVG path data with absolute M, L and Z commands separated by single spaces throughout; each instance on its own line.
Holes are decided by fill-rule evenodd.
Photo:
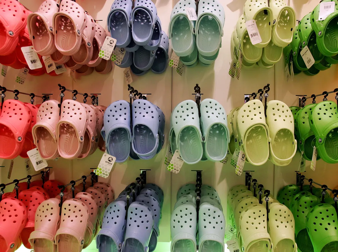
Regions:
M 295 134 L 298 138 L 298 147 L 306 160 L 312 160 L 313 146 L 315 145 L 315 135 L 310 128 L 309 115 L 317 104 L 309 104 L 299 110 L 295 120 Z M 317 155 L 317 160 L 320 156 Z

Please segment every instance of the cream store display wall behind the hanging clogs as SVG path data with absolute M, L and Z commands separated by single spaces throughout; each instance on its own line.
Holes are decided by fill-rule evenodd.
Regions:
M 21 0 L 27 8 L 34 11 L 37 10 L 43 0 L 31 1 Z M 84 10 L 88 10 L 92 17 L 100 21 L 106 29 L 106 17 L 110 11 L 113 0 L 78 0 L 77 1 Z M 154 1 L 161 18 L 162 28 L 167 33 L 170 21 L 170 13 L 172 7 L 177 3 L 174 1 L 157 0 Z M 245 0 L 221 0 L 225 11 L 225 25 L 223 28 L 224 36 L 222 37 L 222 47 L 216 62 L 210 67 L 198 65 L 193 68 L 184 68 L 184 73 L 179 76 L 176 71 L 172 71 L 168 67 L 162 75 L 148 73 L 145 76 L 133 75 L 133 83 L 136 89 L 142 93 L 151 93 L 148 100 L 158 105 L 166 117 L 166 143 L 159 153 L 152 160 L 133 161 L 129 160 L 126 164 L 115 164 L 113 171 L 108 179 L 100 178 L 100 181 L 109 183 L 114 191 L 115 196 L 118 195 L 128 184 L 135 181 L 139 175 L 140 169 L 151 169 L 147 173 L 147 180 L 155 182 L 159 185 L 165 194 L 163 218 L 160 225 L 161 235 L 160 242 L 170 242 L 170 214 L 176 202 L 176 193 L 179 187 L 187 183 L 195 183 L 196 173 L 191 170 L 202 170 L 203 184 L 213 186 L 223 205 L 224 215 L 226 216 L 226 197 L 228 190 L 238 184 L 243 184 L 245 176 L 236 176 L 234 168 L 230 163 L 223 165 L 220 162 L 213 163 L 210 161 L 199 162 L 195 165 L 184 164 L 179 174 L 169 172 L 164 165 L 164 157 L 168 143 L 168 132 L 170 123 L 170 114 L 175 106 L 184 100 L 194 100 L 194 86 L 196 83 L 201 88 L 202 99 L 212 98 L 221 103 L 226 112 L 229 113 L 232 108 L 241 106 L 244 103 L 244 93 L 251 94 L 259 88 L 263 88 L 267 83 L 270 84 L 269 100 L 280 100 L 288 106 L 297 106 L 298 98 L 296 94 L 307 94 L 310 96 L 323 91 L 331 91 L 338 87 L 337 83 L 337 66 L 333 65 L 325 72 L 320 72 L 317 76 L 306 76 L 301 73 L 294 77 L 294 80 L 286 82 L 284 77 L 284 61 L 281 60 L 270 69 L 262 69 L 258 66 L 253 68 L 242 68 L 240 79 L 232 79 L 228 75 L 228 69 L 231 61 L 230 38 L 236 22 L 243 12 Z M 289 1 L 289 5 L 294 8 L 298 20 L 303 18 L 310 12 L 319 1 L 315 0 L 293 0 Z M 169 54 L 171 49 L 169 48 Z M 169 55 L 170 56 L 170 55 Z M 43 75 L 39 77 L 28 76 L 26 82 L 20 85 L 15 82 L 15 76 L 19 70 L 9 68 L 6 77 L 0 77 L 0 85 L 10 89 L 19 89 L 21 92 L 34 92 L 35 94 L 53 93 L 51 99 L 59 100 L 59 89 L 57 84 L 65 86 L 68 89 L 76 89 L 79 92 L 101 93 L 99 95 L 99 105 L 108 106 L 116 100 L 127 100 L 128 90 L 124 80 L 124 69 L 114 65 L 113 71 L 108 75 L 100 75 L 96 72 L 89 76 L 76 77 L 75 80 L 69 76 L 69 71 L 58 77 L 50 77 Z M 7 92 L 6 99 L 11 99 L 11 94 Z M 71 99 L 70 92 L 65 93 L 64 99 Z M 14 95 L 13 95 L 14 96 Z M 334 99 L 335 94 L 328 96 L 329 100 Z M 78 95 L 81 101 L 81 95 Z M 322 98 L 318 97 L 317 102 Z M 19 100 L 29 102 L 29 96 L 19 95 Z M 35 104 L 42 101 L 40 98 L 35 99 Z M 306 104 L 310 104 L 312 100 L 308 100 Z M 90 168 L 97 167 L 102 156 L 102 152 L 96 152 L 82 160 L 65 160 L 59 158 L 57 161 L 49 161 L 52 166 L 51 178 L 69 183 L 72 179 L 80 178 L 84 174 L 89 174 Z M 263 184 L 271 194 L 276 196 L 281 187 L 287 184 L 294 184 L 296 175 L 295 170 L 298 169 L 300 155 L 296 156 L 290 165 L 286 167 L 274 166 L 268 161 L 263 166 L 253 166 L 245 164 L 244 170 L 255 171 L 251 175 L 256 178 L 259 183 Z M 25 177 L 25 160 L 18 157 L 14 160 L 11 178 L 7 179 L 10 160 L 0 160 L 1 183 L 8 183 L 14 178 Z M 336 165 L 318 161 L 316 171 L 310 169 L 310 162 L 306 162 L 307 178 L 315 178 L 320 184 L 326 184 L 329 188 L 334 188 L 337 183 L 335 173 Z M 8 187 L 6 190 L 12 190 Z

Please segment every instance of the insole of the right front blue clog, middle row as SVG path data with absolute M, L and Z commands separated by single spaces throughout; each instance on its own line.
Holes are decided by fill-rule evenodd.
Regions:
M 156 137 L 148 126 L 137 124 L 134 127 L 133 133 L 134 147 L 138 153 L 146 154 L 153 150 L 156 144 Z

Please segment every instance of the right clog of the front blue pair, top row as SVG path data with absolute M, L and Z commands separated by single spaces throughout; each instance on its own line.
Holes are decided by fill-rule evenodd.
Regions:
M 151 41 L 156 20 L 157 10 L 152 1 L 135 1 L 131 11 L 131 33 L 137 45 L 144 46 Z

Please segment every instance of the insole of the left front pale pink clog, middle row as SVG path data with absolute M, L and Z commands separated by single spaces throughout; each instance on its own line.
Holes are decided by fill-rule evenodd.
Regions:
M 44 127 L 38 127 L 36 131 L 37 147 L 42 158 L 51 157 L 54 155 L 57 144 L 54 137 Z

